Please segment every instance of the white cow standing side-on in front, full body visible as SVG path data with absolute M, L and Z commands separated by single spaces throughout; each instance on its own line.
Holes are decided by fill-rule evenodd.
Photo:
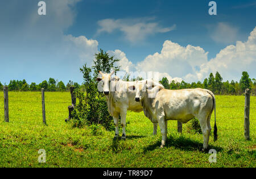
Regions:
M 135 101 L 141 102 L 144 115 L 153 123 L 159 123 L 163 147 L 167 139 L 167 120 L 187 123 L 193 117 L 200 121 L 204 136 L 203 151 L 208 148 L 210 116 L 214 109 L 214 141 L 217 140 L 216 101 L 212 91 L 207 89 L 168 90 L 160 86 L 147 88 L 147 81 L 137 83 Z

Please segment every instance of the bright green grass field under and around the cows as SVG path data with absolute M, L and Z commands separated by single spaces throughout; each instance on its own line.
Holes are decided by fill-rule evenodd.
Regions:
M 10 122 L 4 122 L 0 95 L 0 167 L 255 167 L 256 97 L 251 97 L 250 141 L 243 136 L 243 96 L 216 96 L 218 140 L 210 135 L 209 148 L 216 149 L 217 163 L 201 152 L 203 135 L 190 134 L 183 124 L 168 122 L 166 147 L 162 136 L 152 135 L 153 125 L 143 112 L 127 114 L 126 140 L 113 140 L 114 131 L 99 127 L 72 128 L 68 117 L 70 93 L 46 92 L 46 121 L 42 122 L 40 92 L 9 92 Z M 238 107 L 232 107 L 238 106 Z M 214 115 L 211 125 L 213 128 Z M 121 130 L 120 130 L 121 134 Z M 45 149 L 46 163 L 38 163 Z

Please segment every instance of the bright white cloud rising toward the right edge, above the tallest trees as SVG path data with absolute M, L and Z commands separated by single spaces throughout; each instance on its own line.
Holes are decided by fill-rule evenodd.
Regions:
M 220 72 L 225 80 L 239 80 L 242 71 L 250 76 L 256 76 L 256 27 L 250 33 L 247 41 L 237 41 L 236 45 L 228 45 L 216 57 L 200 65 L 196 75 L 188 74 L 189 78 L 199 78 L 209 75 L 210 72 Z

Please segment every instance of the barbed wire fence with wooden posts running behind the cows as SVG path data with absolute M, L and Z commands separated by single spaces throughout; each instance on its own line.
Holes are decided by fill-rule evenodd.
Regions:
M 67 111 L 52 111 L 52 110 L 46 110 L 46 103 L 70 103 L 70 102 L 66 102 L 66 101 L 45 101 L 44 99 L 44 89 L 42 88 L 42 101 L 38 101 L 38 100 L 26 100 L 26 99 L 20 99 L 20 98 L 16 98 L 16 97 L 11 97 L 11 99 L 15 100 L 15 101 L 20 101 L 20 102 L 32 102 L 32 103 L 42 103 L 42 110 L 26 110 L 23 108 L 15 108 L 15 110 L 17 111 L 25 111 L 30 113 L 30 115 L 32 115 L 35 112 L 41 112 L 42 116 L 43 116 L 43 123 L 46 123 L 46 112 L 47 113 L 67 113 L 68 112 L 68 118 L 65 119 L 65 121 L 67 122 L 68 120 L 72 119 L 72 111 L 74 110 L 75 106 L 76 106 L 76 97 L 74 95 L 74 90 L 75 88 L 73 86 L 71 86 L 70 91 L 71 91 L 71 103 L 72 105 L 68 106 L 68 110 Z M 9 122 L 9 95 L 8 95 L 8 87 L 4 86 L 3 88 L 3 93 L 4 93 L 4 97 L 0 97 L 0 99 L 4 99 L 4 107 L 0 106 L 0 110 L 4 110 L 5 111 L 5 122 Z M 244 108 L 245 112 L 244 112 L 244 133 L 245 133 L 245 139 L 249 140 L 250 139 L 250 121 L 249 120 L 255 120 L 255 119 L 250 119 L 250 109 L 256 109 L 256 107 L 250 107 L 250 90 L 246 89 L 245 90 L 245 106 L 217 106 L 217 108 Z M 38 116 L 38 114 L 36 115 L 32 115 L 32 116 Z M 222 118 L 222 119 L 241 119 L 243 118 L 242 116 L 232 116 L 232 117 L 226 117 L 226 116 L 218 116 L 218 118 Z M 222 130 L 237 130 L 238 128 L 232 129 L 222 129 Z M 182 123 L 177 122 L 177 131 L 178 132 L 182 132 Z

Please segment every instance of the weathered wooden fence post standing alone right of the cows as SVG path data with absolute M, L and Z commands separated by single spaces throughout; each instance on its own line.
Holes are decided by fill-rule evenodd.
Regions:
M 250 89 L 245 90 L 245 140 L 250 140 Z

